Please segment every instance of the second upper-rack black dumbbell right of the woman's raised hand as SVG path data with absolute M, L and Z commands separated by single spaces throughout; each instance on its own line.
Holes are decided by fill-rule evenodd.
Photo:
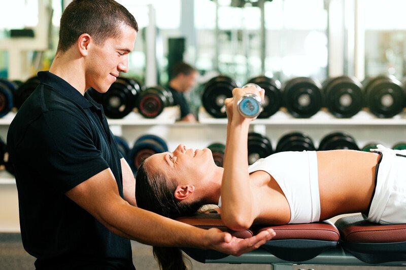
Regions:
M 317 80 L 298 77 L 286 82 L 283 91 L 286 109 L 295 118 L 310 118 L 323 106 L 323 93 Z

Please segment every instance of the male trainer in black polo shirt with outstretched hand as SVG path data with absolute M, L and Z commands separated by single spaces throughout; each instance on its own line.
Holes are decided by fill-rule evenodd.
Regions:
M 240 255 L 275 234 L 237 239 L 136 207 L 133 174 L 86 90 L 105 93 L 128 71 L 137 31 L 113 0 L 71 2 L 50 70 L 10 125 L 21 236 L 37 269 L 134 269 L 130 239 Z

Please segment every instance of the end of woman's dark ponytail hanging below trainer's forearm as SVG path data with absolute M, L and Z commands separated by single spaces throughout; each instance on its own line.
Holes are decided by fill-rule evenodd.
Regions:
M 154 257 L 161 270 L 187 270 L 185 256 L 180 248 L 153 247 Z M 190 263 L 190 260 L 188 260 Z

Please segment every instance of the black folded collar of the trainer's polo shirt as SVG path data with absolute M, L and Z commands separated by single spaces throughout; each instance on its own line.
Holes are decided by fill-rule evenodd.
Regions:
M 86 97 L 89 94 L 85 93 L 85 96 L 82 96 L 76 88 L 49 71 L 38 72 L 38 77 L 40 78 L 41 83 L 52 87 L 55 91 L 75 101 L 84 109 L 95 105 L 90 101 L 91 99 L 89 100 L 88 97 Z M 96 107 L 99 108 L 98 106 Z

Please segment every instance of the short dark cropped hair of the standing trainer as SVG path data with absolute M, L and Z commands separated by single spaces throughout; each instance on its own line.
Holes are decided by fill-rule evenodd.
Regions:
M 98 45 L 120 34 L 127 25 L 138 31 L 134 16 L 114 0 L 74 0 L 60 18 L 58 51 L 66 52 L 83 33 L 92 36 Z

